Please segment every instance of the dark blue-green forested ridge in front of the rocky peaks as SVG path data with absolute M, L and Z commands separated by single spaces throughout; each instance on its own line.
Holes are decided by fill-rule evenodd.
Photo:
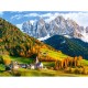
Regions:
M 79 38 L 68 38 L 62 35 L 54 35 L 44 41 L 44 43 L 62 51 L 69 56 L 82 56 L 88 59 L 88 43 Z

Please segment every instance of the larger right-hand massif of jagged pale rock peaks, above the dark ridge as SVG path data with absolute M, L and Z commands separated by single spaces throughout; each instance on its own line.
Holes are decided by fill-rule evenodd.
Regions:
M 52 28 L 52 25 L 54 25 Z M 52 35 L 69 35 L 72 37 L 81 37 L 81 28 L 73 20 L 65 20 L 63 16 L 57 16 L 51 22 L 51 34 Z

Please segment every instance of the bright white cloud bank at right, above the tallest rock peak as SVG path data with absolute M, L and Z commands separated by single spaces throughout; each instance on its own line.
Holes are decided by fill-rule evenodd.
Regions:
M 65 19 L 72 19 L 76 21 L 81 26 L 88 26 L 88 12 L 68 12 L 68 13 L 52 13 L 52 16 L 45 19 L 45 21 L 50 22 L 54 20 L 58 15 L 63 15 Z

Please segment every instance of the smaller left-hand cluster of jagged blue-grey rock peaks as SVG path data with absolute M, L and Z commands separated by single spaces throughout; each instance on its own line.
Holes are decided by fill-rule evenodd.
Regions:
M 38 21 L 34 22 L 33 25 L 30 21 L 23 23 L 22 30 L 29 35 L 38 38 L 47 35 L 47 30 L 45 25 L 45 21 L 43 19 L 40 19 Z

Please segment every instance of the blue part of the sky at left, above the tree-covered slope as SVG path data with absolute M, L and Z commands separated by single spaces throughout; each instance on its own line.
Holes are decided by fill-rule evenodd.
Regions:
M 37 20 L 42 14 L 56 13 L 56 12 L 57 11 L 22 11 L 22 12 L 21 11 L 3 11 L 1 12 L 0 16 L 13 24 L 20 24 L 28 20 Z M 64 11 L 59 13 L 67 13 L 67 12 Z M 48 15 L 44 18 L 48 18 Z

